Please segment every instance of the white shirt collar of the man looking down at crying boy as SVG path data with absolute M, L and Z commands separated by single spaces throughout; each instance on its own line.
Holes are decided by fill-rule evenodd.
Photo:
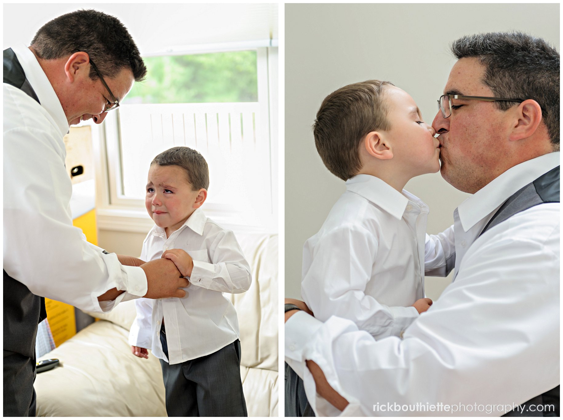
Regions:
M 62 109 L 59 97 L 51 86 L 51 82 L 47 78 L 45 72 L 39 65 L 37 58 L 25 44 L 12 47 L 15 52 L 17 60 L 20 62 L 25 72 L 25 77 L 28 79 L 29 84 L 33 87 L 41 106 L 47 110 L 51 115 L 61 135 L 64 136 L 69 131 L 69 123 L 66 119 L 65 111 Z

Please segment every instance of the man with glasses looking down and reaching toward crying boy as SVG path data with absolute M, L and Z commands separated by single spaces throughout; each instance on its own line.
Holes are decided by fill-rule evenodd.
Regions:
M 188 282 L 171 261 L 141 265 L 86 242 L 72 226 L 62 137 L 81 120 L 101 123 L 145 77 L 127 29 L 113 16 L 80 10 L 3 55 L 3 406 L 6 416 L 34 416 L 43 297 L 103 312 L 141 296 L 182 297 Z

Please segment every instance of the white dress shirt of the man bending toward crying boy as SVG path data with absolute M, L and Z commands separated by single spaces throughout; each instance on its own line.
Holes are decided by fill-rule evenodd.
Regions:
M 86 242 L 72 225 L 65 170 L 68 121 L 29 48 L 12 48 L 39 102 L 3 84 L 4 269 L 37 296 L 102 312 L 147 292 L 145 272 Z M 117 288 L 111 302 L 97 297 Z M 134 296 L 132 296 L 134 295 Z

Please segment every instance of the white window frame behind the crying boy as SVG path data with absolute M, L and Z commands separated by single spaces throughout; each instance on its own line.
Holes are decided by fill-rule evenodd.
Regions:
M 227 229 L 244 232 L 278 231 L 278 48 L 257 47 L 240 48 L 240 50 L 256 50 L 258 102 L 261 118 L 261 132 L 266 136 L 270 149 L 270 182 L 271 182 L 271 213 L 266 224 L 249 226 L 237 224 L 233 216 L 224 206 L 208 204 L 205 209 L 207 216 L 213 218 Z M 231 51 L 233 51 L 230 48 Z M 220 52 L 220 50 L 198 51 Z M 190 52 L 174 52 L 192 53 Z M 84 124 L 87 124 L 85 122 Z M 120 191 L 120 145 L 118 133 L 119 119 L 117 113 L 108 113 L 104 123 L 92 126 L 93 153 L 96 164 L 96 209 L 97 225 L 99 229 L 126 232 L 146 233 L 154 225 L 153 220 L 145 210 L 142 199 L 127 198 L 119 194 Z M 230 216 L 230 217 L 229 217 Z M 236 217 L 235 217 L 236 218 Z

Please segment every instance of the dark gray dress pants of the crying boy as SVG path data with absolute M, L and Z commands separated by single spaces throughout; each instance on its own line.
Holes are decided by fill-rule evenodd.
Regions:
M 164 325 L 160 343 L 166 357 Z M 240 340 L 215 353 L 170 365 L 160 359 L 168 417 L 246 417 L 240 380 Z

